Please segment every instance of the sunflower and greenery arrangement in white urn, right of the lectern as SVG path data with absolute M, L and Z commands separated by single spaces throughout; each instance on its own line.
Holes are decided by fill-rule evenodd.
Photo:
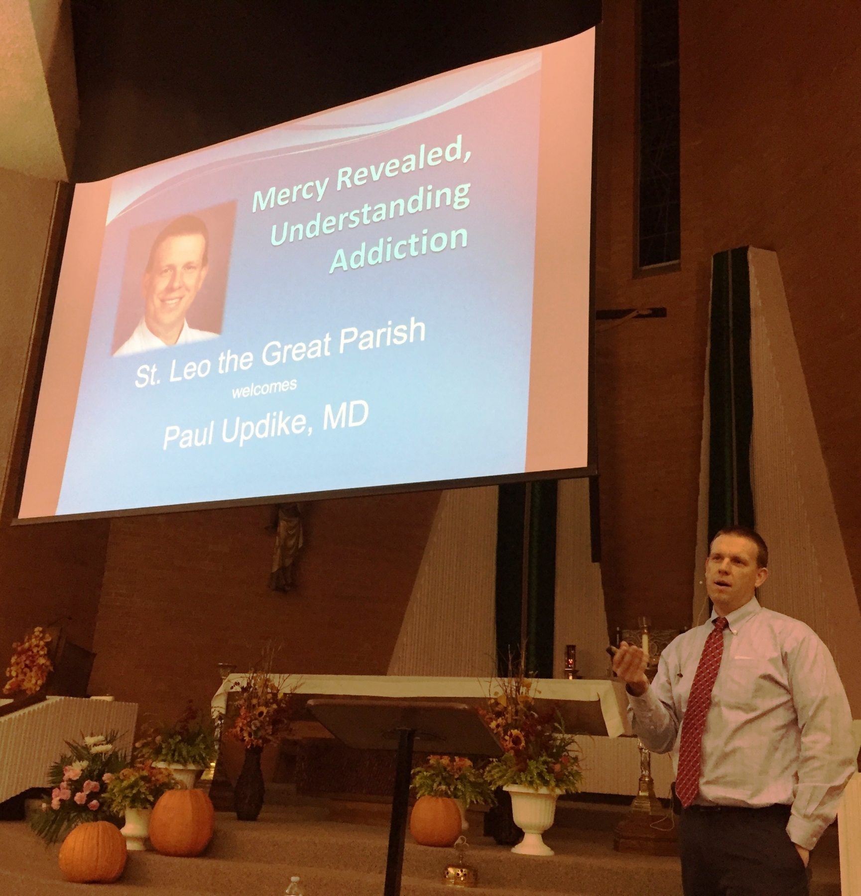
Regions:
M 487 764 L 485 780 L 493 788 L 519 784 L 576 793 L 581 781 L 576 738 L 565 731 L 558 710 L 537 711 L 535 685 L 522 668 L 510 673 L 499 679 L 487 709 L 479 711 L 505 751 Z

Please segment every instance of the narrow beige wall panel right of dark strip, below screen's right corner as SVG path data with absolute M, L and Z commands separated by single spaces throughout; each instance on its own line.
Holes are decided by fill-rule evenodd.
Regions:
M 601 567 L 591 557 L 589 479 L 562 479 L 556 497 L 555 678 L 564 675 L 565 644 L 577 645 L 583 678 L 607 677 L 607 614 Z

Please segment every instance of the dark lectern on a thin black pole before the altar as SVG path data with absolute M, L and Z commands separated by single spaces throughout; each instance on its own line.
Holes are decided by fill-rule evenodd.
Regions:
M 478 713 L 465 703 L 315 699 L 309 700 L 307 707 L 347 746 L 397 751 L 383 896 L 400 896 L 413 751 L 496 759 L 503 748 Z

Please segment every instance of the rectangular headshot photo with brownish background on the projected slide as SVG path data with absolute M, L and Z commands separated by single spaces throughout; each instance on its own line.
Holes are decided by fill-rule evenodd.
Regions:
M 115 358 L 220 336 L 236 214 L 236 202 L 223 202 L 133 228 Z

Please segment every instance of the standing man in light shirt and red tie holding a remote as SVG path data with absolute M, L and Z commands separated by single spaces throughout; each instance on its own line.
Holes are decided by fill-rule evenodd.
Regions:
M 672 750 L 682 803 L 685 896 L 806 896 L 809 852 L 856 770 L 852 716 L 828 649 L 804 623 L 760 606 L 768 547 L 753 530 L 711 542 L 714 611 L 661 654 L 623 643 L 613 660 L 633 727 Z

